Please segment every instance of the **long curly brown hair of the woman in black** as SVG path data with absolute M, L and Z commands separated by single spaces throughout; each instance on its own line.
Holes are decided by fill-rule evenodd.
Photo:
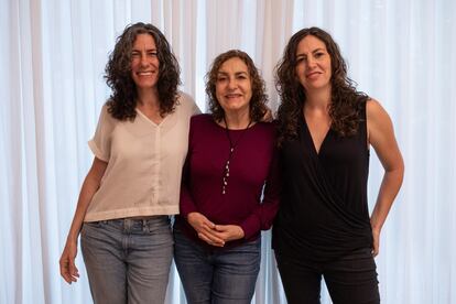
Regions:
M 339 46 L 327 32 L 319 28 L 298 31 L 290 39 L 283 56 L 275 67 L 275 88 L 281 98 L 278 110 L 280 144 L 285 139 L 297 137 L 297 126 L 306 101 L 306 93 L 296 78 L 296 50 L 300 42 L 308 35 L 324 42 L 330 56 L 332 100 L 329 117 L 332 129 L 341 137 L 355 134 L 361 120 L 361 105 L 368 98 L 366 94 L 356 90 L 355 82 L 347 76 L 347 65 L 340 54 Z

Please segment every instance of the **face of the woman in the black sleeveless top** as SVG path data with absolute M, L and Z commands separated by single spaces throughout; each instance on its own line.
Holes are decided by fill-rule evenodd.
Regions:
M 295 73 L 306 91 L 330 89 L 330 56 L 323 41 L 307 35 L 297 44 Z

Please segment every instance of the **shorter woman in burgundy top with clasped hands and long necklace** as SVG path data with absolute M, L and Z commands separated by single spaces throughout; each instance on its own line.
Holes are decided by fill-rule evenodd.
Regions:
M 279 204 L 275 130 L 248 54 L 220 54 L 206 79 L 211 115 L 191 120 L 174 259 L 188 303 L 250 303 Z

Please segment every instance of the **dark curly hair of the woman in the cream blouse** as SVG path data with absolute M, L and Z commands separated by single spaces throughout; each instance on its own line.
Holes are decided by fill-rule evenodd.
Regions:
M 160 115 L 173 112 L 177 102 L 177 87 L 181 84 L 181 68 L 163 33 L 152 24 L 142 22 L 128 25 L 118 36 L 115 50 L 105 68 L 107 85 L 112 95 L 107 101 L 108 111 L 119 120 L 133 120 L 137 116 L 137 86 L 131 77 L 131 50 L 139 34 L 150 34 L 154 41 L 160 62 L 156 84 Z

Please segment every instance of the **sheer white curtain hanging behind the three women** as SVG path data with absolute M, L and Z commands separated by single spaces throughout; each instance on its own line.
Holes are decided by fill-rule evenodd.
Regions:
M 276 109 L 273 68 L 298 29 L 329 31 L 360 90 L 390 113 L 405 160 L 402 191 L 377 258 L 382 303 L 456 303 L 456 2 L 453 0 L 1 0 L 0 303 L 90 303 L 58 258 L 93 135 L 109 96 L 102 75 L 117 35 L 152 22 L 204 110 L 204 75 L 228 48 L 247 51 Z M 381 166 L 372 153 L 369 199 Z M 263 238 L 253 303 L 286 303 Z M 185 303 L 173 268 L 167 303 Z M 324 291 L 322 303 L 328 304 Z

